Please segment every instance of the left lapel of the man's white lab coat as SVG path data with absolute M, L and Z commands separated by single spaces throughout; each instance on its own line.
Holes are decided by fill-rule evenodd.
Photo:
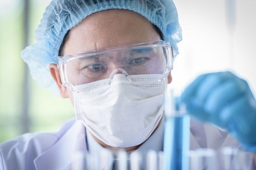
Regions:
M 79 120 L 51 148 L 34 160 L 36 170 L 66 170 L 71 167 L 72 156 L 78 151 L 87 152 L 85 127 Z

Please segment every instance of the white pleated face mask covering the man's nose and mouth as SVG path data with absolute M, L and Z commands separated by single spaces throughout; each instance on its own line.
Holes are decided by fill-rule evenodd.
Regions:
M 116 74 L 109 79 L 73 86 L 77 119 L 105 144 L 127 148 L 143 143 L 162 118 L 166 78 L 147 74 L 129 76 Z M 150 84 L 153 83 L 153 84 Z M 106 90 L 107 89 L 107 90 Z

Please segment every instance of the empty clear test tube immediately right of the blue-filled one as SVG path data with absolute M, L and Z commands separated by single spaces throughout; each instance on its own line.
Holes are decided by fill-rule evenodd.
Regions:
M 201 148 L 190 151 L 190 170 L 218 170 L 216 152 Z

